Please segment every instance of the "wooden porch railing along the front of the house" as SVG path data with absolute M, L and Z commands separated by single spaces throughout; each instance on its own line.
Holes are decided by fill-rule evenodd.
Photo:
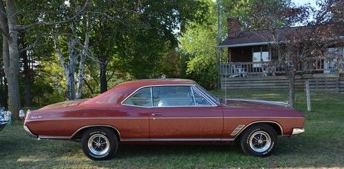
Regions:
M 285 64 L 285 63 L 283 63 Z M 290 64 L 290 67 L 293 65 Z M 246 76 L 276 76 L 286 74 L 281 63 L 270 62 L 238 62 L 238 63 L 220 63 L 220 75 L 227 77 L 246 77 Z M 323 59 L 314 59 L 297 65 L 297 71 L 303 73 L 323 73 L 331 74 L 344 71 L 344 63 L 327 61 Z

